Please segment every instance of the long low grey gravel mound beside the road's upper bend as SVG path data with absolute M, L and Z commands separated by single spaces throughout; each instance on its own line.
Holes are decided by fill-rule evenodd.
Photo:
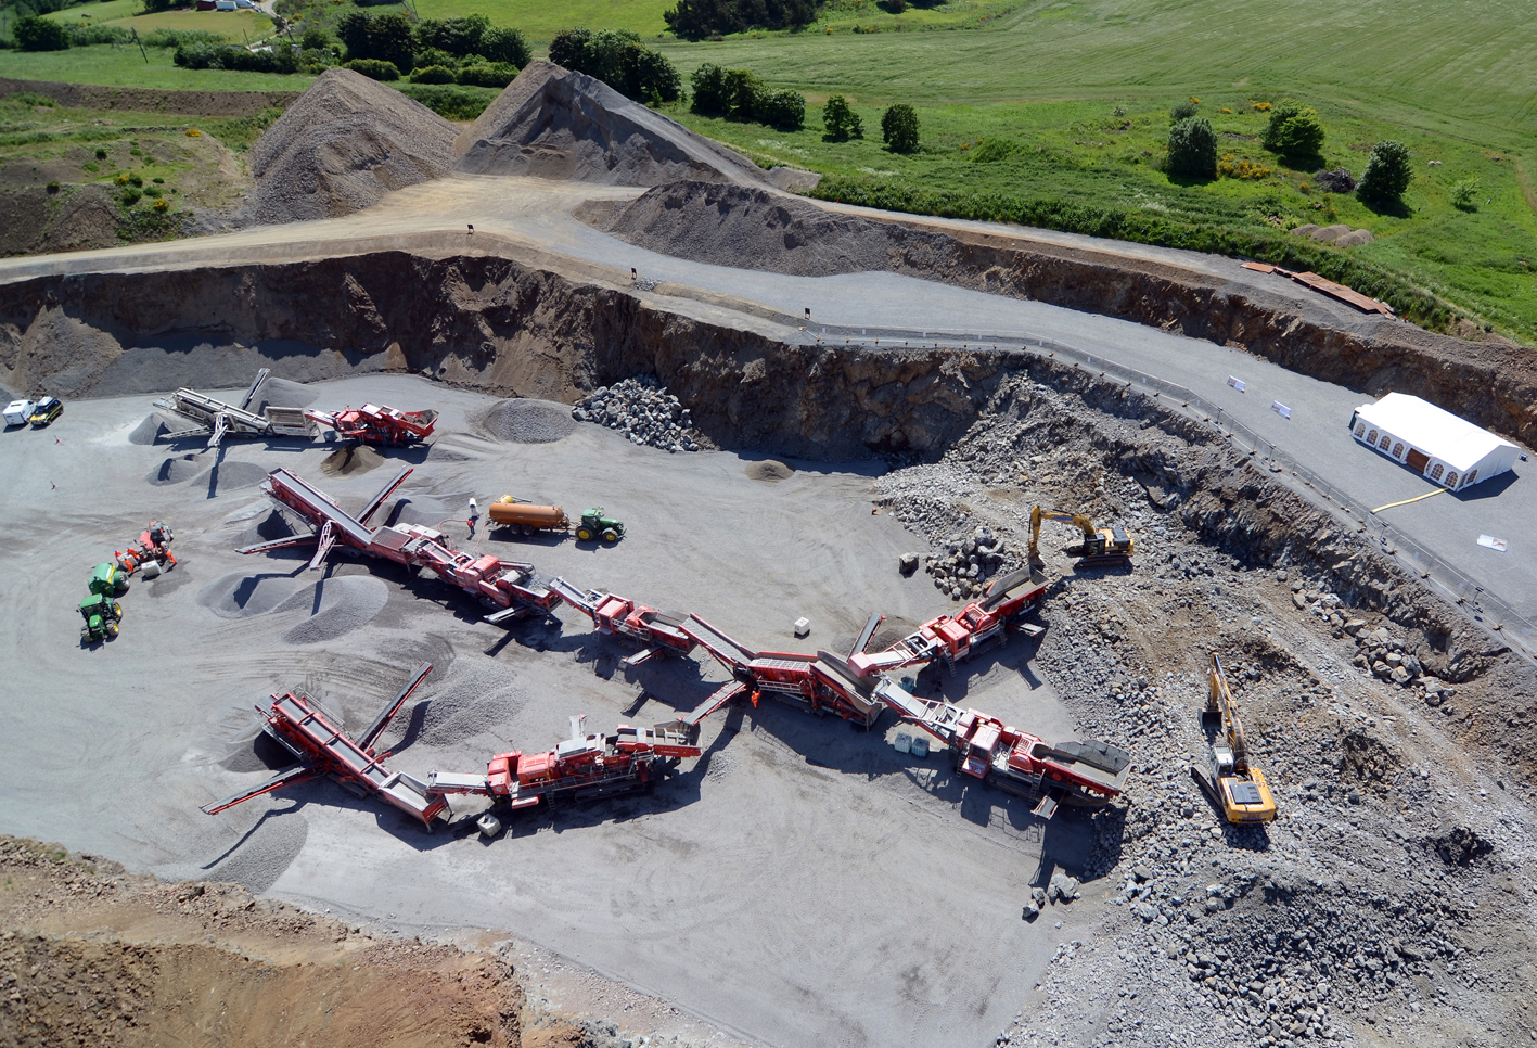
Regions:
M 609 215 L 576 211 L 596 229 L 639 247 L 738 269 L 792 277 L 890 270 L 945 263 L 956 241 L 944 234 L 839 215 L 753 186 L 679 181 L 641 194 Z

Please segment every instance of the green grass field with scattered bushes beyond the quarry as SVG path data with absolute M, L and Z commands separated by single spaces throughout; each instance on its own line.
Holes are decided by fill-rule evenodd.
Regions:
M 91 8 L 108 14 L 132 2 Z M 1356 258 L 1445 297 L 1480 323 L 1537 341 L 1537 284 L 1529 274 L 1537 264 L 1537 63 L 1529 61 L 1537 20 L 1512 0 L 1400 0 L 1391 8 L 1325 0 L 1268 8 L 1243 0 L 956 0 L 899 15 L 873 0 L 832 0 L 807 31 L 716 43 L 658 37 L 670 3 L 420 0 L 417 9 L 423 17 L 481 11 L 521 28 L 536 46 L 566 26 L 635 29 L 686 80 L 704 61 L 753 69 L 772 86 L 807 95 L 805 131 L 701 120 L 682 109 L 673 115 L 762 163 L 793 163 L 850 180 L 844 184 L 908 198 L 1064 200 L 1202 229 L 1363 226 L 1379 240 L 1349 249 Z M 151 58 L 146 68 L 137 54 L 129 60 L 111 48 L 0 52 L 0 75 L 157 88 L 307 83 L 191 72 L 171 66 L 168 54 Z M 864 115 L 864 141 L 822 141 L 819 106 L 835 92 Z M 1270 166 L 1271 175 L 1174 184 L 1156 171 L 1167 111 L 1188 95 L 1202 98 L 1225 152 Z M 1331 167 L 1359 175 L 1371 143 L 1406 141 L 1417 175 L 1409 211 L 1374 214 L 1353 197 L 1319 194 L 1306 171 L 1290 171 L 1260 151 L 1254 137 L 1265 118 L 1250 103 L 1288 95 L 1322 114 Z M 879 114 L 893 101 L 918 106 L 924 149 L 915 157 L 881 148 Z M 978 161 L 971 151 L 990 140 L 982 152 L 994 158 Z M 996 157 L 999 151 L 1005 155 Z M 1474 212 L 1449 203 L 1462 178 L 1479 180 Z

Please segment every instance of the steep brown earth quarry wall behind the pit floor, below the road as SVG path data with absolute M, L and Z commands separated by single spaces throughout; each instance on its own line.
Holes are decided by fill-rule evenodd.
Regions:
M 0 286 L 8 389 L 157 392 L 224 360 L 297 380 L 397 367 L 570 403 L 653 373 L 716 444 L 824 459 L 938 450 L 1014 357 L 792 346 L 496 257 L 392 250 Z

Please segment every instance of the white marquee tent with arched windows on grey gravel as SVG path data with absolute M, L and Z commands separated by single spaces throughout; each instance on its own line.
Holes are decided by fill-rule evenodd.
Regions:
M 1486 429 L 1406 393 L 1362 404 L 1351 435 L 1452 492 L 1509 470 L 1520 449 Z

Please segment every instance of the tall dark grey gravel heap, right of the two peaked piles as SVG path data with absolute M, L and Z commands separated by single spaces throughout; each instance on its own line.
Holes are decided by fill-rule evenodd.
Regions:
M 271 134 L 271 132 L 269 132 Z M 606 186 L 761 184 L 745 157 L 581 72 L 532 61 L 453 143 L 456 171 Z

